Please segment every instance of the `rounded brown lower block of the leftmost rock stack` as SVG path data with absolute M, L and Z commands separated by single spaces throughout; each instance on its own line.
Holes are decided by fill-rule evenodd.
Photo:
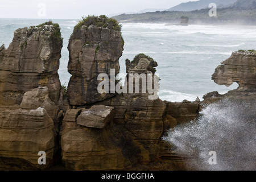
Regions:
M 56 150 L 53 121 L 38 109 L 0 108 L 0 169 L 47 168 Z M 38 164 L 46 152 L 47 165 Z

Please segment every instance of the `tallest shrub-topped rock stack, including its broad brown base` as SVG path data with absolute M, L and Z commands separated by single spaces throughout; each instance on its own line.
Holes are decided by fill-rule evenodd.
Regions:
M 123 51 L 121 27 L 106 16 L 88 16 L 74 28 L 69 39 L 69 103 L 79 109 L 65 113 L 61 128 L 61 156 L 65 168 L 75 170 L 123 169 L 129 164 L 120 139 L 113 132 L 114 107 L 97 105 L 115 96 L 99 93 L 98 75 L 119 73 Z M 114 82 L 115 84 L 115 82 Z

